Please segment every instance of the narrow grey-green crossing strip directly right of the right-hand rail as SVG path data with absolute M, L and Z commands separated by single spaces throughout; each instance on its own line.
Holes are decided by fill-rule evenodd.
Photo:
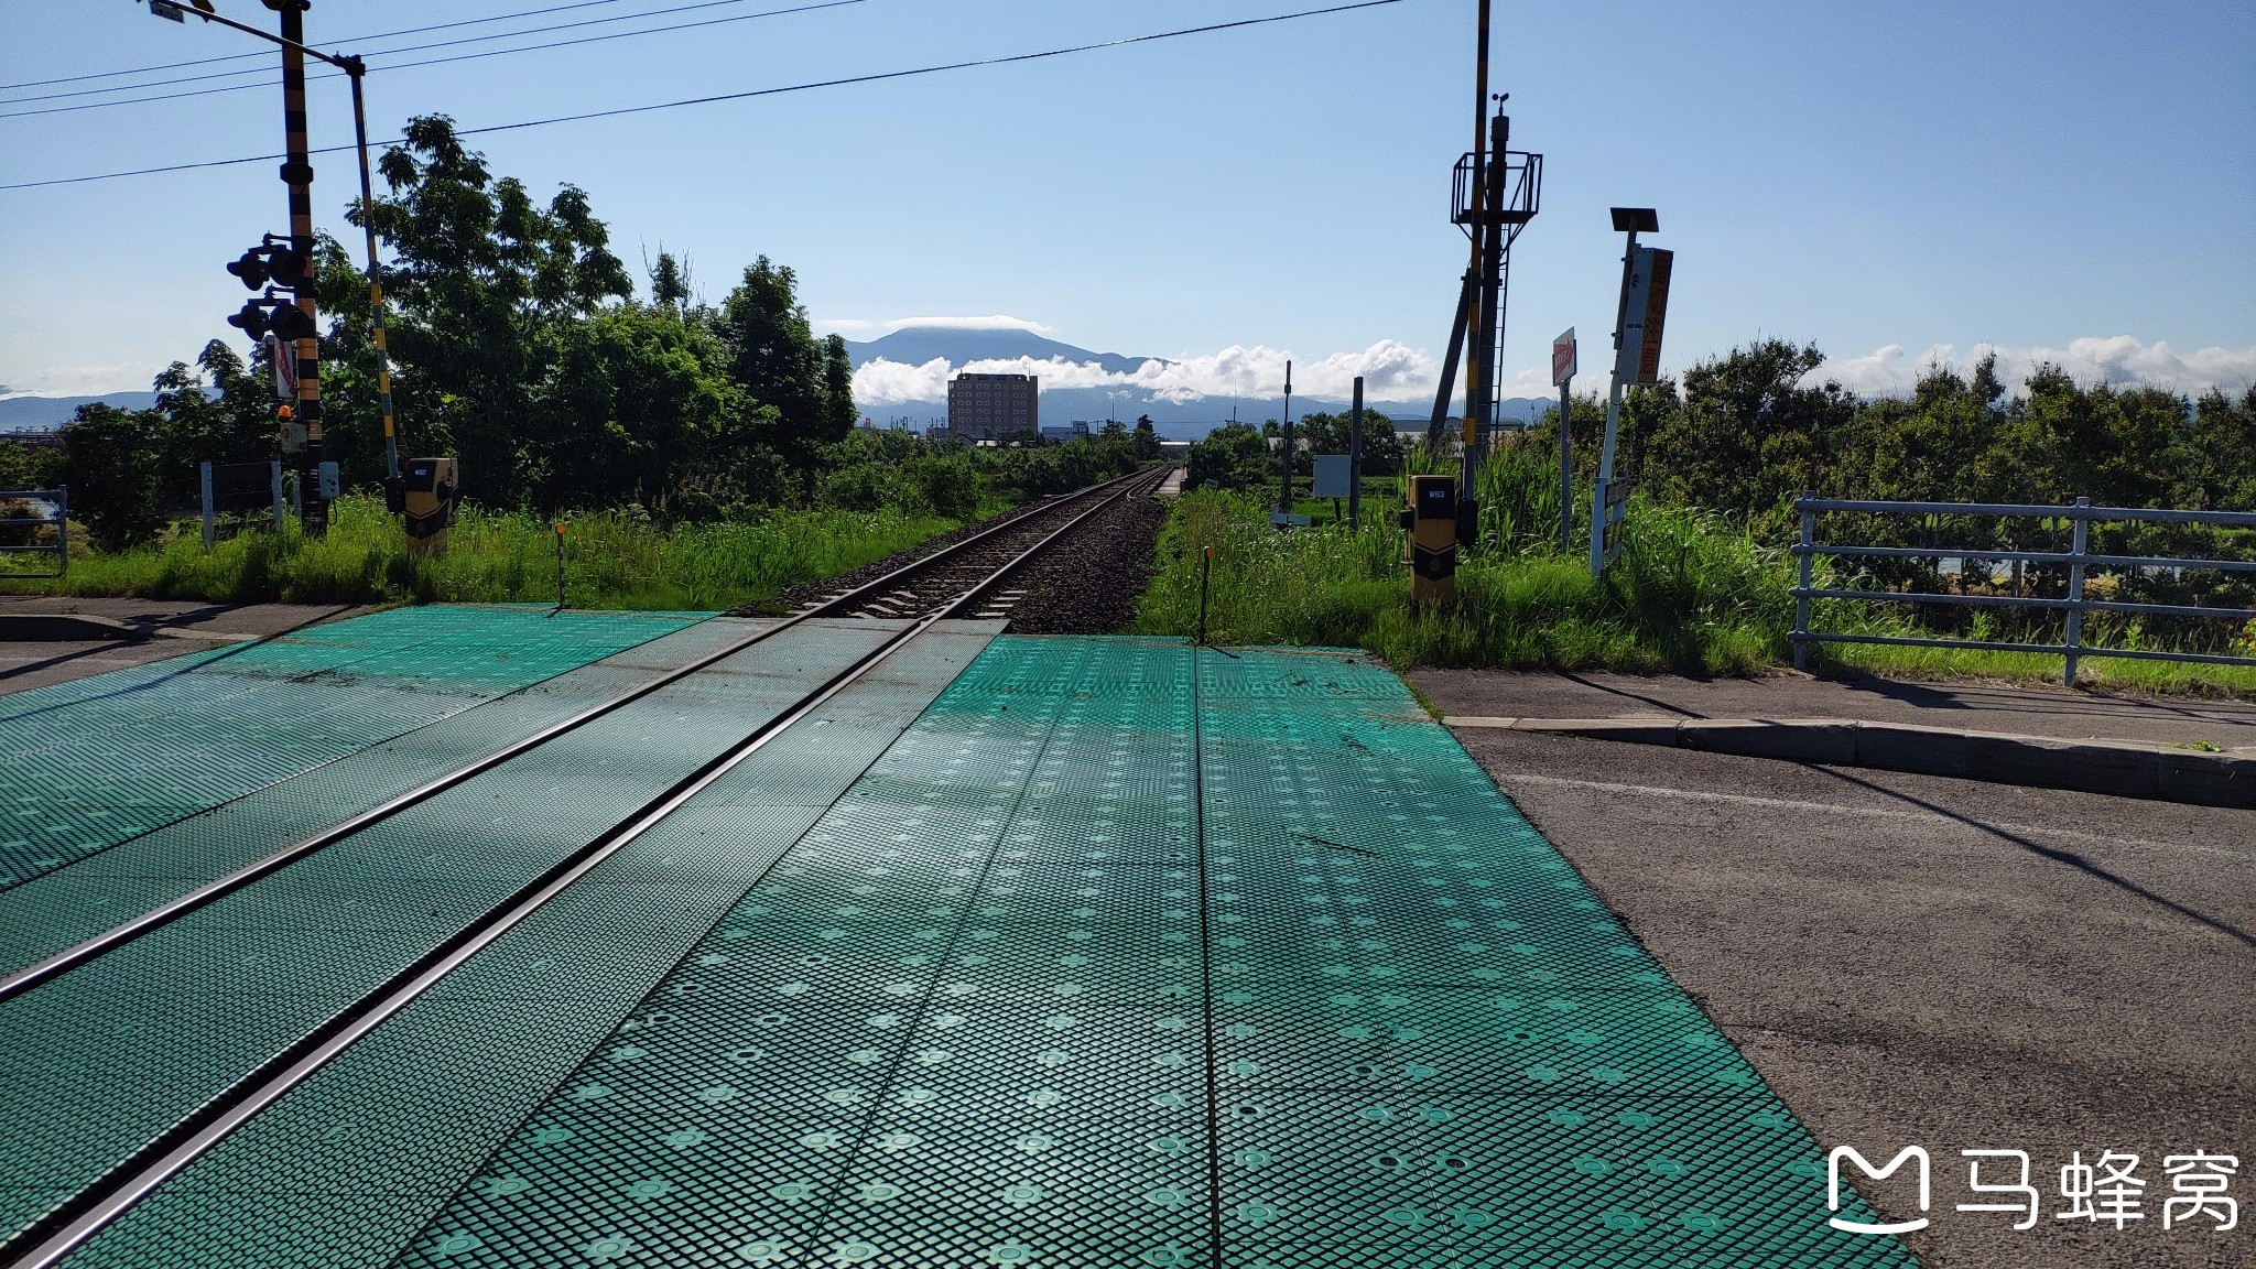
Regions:
M 70 1264 L 381 1267 L 999 623 L 857 680 L 129 1213 Z

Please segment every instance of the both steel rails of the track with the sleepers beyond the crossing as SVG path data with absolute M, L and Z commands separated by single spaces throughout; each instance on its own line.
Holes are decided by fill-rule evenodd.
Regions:
M 1155 490 L 1164 481 L 1164 470 L 1135 472 L 1076 495 L 1049 499 L 999 524 L 990 524 L 984 531 L 923 560 L 909 562 L 866 585 L 857 585 L 808 605 L 776 625 L 699 655 L 697 659 L 668 671 L 634 691 L 620 693 L 582 714 L 544 727 L 541 732 L 411 788 L 320 833 L 289 842 L 287 847 L 246 867 L 122 921 L 92 939 L 0 978 L 0 1032 L 5 1032 L 7 1023 L 14 1021 L 18 1030 L 9 1034 L 23 1034 L 23 1012 L 29 1009 L 36 1014 L 41 1005 L 38 991 L 43 987 L 63 989 L 68 996 L 72 973 L 99 969 L 104 957 L 111 957 L 151 935 L 167 933 L 199 910 L 241 894 L 259 881 L 287 872 L 291 865 L 314 860 L 323 851 L 341 847 L 359 833 L 379 829 L 386 822 L 429 804 L 447 790 L 505 768 L 508 763 L 553 745 L 564 736 L 582 732 L 591 723 L 614 716 L 670 684 L 715 671 L 731 657 L 738 657 L 758 644 L 785 637 L 787 632 L 814 621 L 869 619 L 898 623 L 896 628 L 884 630 L 875 646 L 853 655 L 841 668 L 830 671 L 821 682 L 801 691 L 794 702 L 776 709 L 767 720 L 758 723 L 740 738 L 695 765 L 695 770 L 688 770 L 679 779 L 672 779 L 666 788 L 654 790 L 629 815 L 616 817 L 616 822 L 609 822 L 609 826 L 591 840 L 559 854 L 553 860 L 546 860 L 546 865 L 535 874 L 514 878 L 505 892 L 492 894 L 481 912 L 467 921 L 458 921 L 422 955 L 415 955 L 397 969 L 386 966 L 388 973 L 384 973 L 381 982 L 372 989 L 361 991 L 347 1005 L 329 1007 L 325 1016 L 309 1018 L 309 1025 L 298 1027 L 293 1039 L 277 1045 L 277 1050 L 264 1061 L 232 1075 L 230 1082 L 214 1095 L 183 1095 L 176 1113 L 165 1113 L 165 1127 L 160 1131 L 147 1134 L 135 1145 L 122 1149 L 117 1158 L 99 1163 L 99 1170 L 92 1174 L 70 1179 L 72 1185 L 83 1183 L 72 1197 L 36 1213 L 32 1219 L 0 1224 L 0 1267 L 47 1269 L 61 1264 L 88 1240 L 131 1213 L 142 1199 L 158 1192 L 171 1176 L 180 1174 L 180 1170 L 196 1163 L 230 1134 L 259 1115 L 259 1111 L 273 1106 L 289 1091 L 305 1084 L 311 1075 L 377 1030 L 386 1018 L 393 1018 L 413 1005 L 478 951 L 492 946 L 505 933 L 562 896 L 605 860 L 645 838 L 668 815 L 735 772 L 754 754 L 787 734 L 810 714 L 819 711 L 857 680 L 878 671 L 884 662 L 896 657 L 936 623 L 950 619 L 1006 616 L 1011 603 L 1017 598 L 1017 594 L 1008 589 L 1008 583 L 1026 562 L 1069 542 L 1078 526 L 1114 501 Z M 839 625 L 830 628 L 837 630 Z M 316 921 L 307 921 L 307 917 L 318 914 L 300 912 L 298 917 L 302 924 L 316 926 Z M 338 919 L 343 917 L 338 914 Z M 320 935 L 318 930 L 309 930 L 307 937 Z M 9 1018 L 9 1014 L 18 1016 Z

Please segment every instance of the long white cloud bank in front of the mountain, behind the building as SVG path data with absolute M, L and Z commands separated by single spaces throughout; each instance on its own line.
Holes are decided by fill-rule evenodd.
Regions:
M 1065 361 L 1051 357 L 1036 361 L 1015 357 L 1008 361 L 966 361 L 950 366 L 943 359 L 923 366 L 898 361 L 866 361 L 855 370 L 855 400 L 871 404 L 936 402 L 948 395 L 948 375 L 968 370 L 975 375 L 1040 375 L 1045 388 L 1126 388 L 1151 393 L 1164 402 L 1191 402 L 1198 397 L 1275 397 L 1284 393 L 1284 366 L 1288 352 L 1266 345 L 1230 345 L 1202 357 L 1180 361 L 1144 361 L 1135 370 L 1105 370 L 1096 361 Z M 1293 364 L 1293 391 L 1302 397 L 1345 400 L 1363 375 L 1363 395 L 1374 402 L 1430 400 L 1435 391 L 1433 357 L 1394 339 L 1381 339 L 1363 352 L 1333 352 L 1318 361 Z

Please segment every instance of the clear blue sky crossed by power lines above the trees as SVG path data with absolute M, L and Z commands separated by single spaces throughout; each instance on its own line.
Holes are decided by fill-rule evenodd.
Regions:
M 377 50 L 690 0 L 343 43 L 544 2 L 316 0 L 307 25 Z M 476 126 L 1299 7 L 862 0 L 453 65 L 372 56 L 370 99 L 377 135 L 426 111 Z M 582 185 L 629 262 L 686 253 L 711 298 L 754 255 L 792 264 L 810 312 L 848 336 L 1008 316 L 1223 379 L 1286 355 L 1318 375 L 1367 368 L 1412 397 L 1464 266 L 1446 201 L 1471 133 L 1471 20 L 1473 0 L 1403 0 L 478 145 L 541 194 Z M 248 47 L 129 0 L 0 0 L 0 84 Z M 1557 330 L 1581 330 L 1588 364 L 1611 325 L 1611 203 L 1656 205 L 1649 242 L 1678 253 L 1667 366 L 1778 334 L 1875 391 L 1976 345 L 2094 377 L 2256 377 L 2256 5 L 1500 0 L 1493 65 L 1516 142 L 1548 158 L 1514 260 L 1507 373 L 1527 391 Z M 0 90 L 0 113 L 86 102 L 20 104 L 86 86 Z M 316 145 L 350 138 L 341 84 L 316 86 L 314 126 Z M 0 183 L 277 142 L 268 86 L 0 117 Z M 352 165 L 316 167 L 323 221 L 343 230 Z M 268 228 L 273 165 L 0 192 L 0 384 L 144 388 L 230 334 L 241 291 L 221 264 Z

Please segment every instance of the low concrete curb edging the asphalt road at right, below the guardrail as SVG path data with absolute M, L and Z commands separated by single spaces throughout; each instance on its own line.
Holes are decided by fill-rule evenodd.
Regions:
M 2114 797 L 2256 808 L 2256 752 L 2211 754 L 2152 741 L 2062 741 L 1861 718 L 1444 718 L 1448 727 L 1545 732 L 1588 741 L 1667 745 L 1748 759 L 1784 759 L 2073 788 Z

